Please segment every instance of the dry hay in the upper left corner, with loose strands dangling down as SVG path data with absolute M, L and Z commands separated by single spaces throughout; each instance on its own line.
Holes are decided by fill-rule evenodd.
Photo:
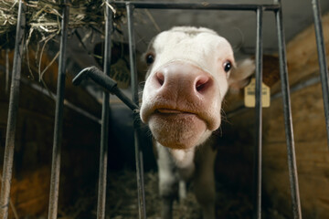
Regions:
M 28 54 L 31 49 L 36 52 L 36 61 L 29 60 L 26 56 L 25 63 L 34 79 L 33 70 L 37 69 L 38 80 L 47 89 L 43 81 L 43 75 L 58 58 L 59 52 L 48 54 L 52 56 L 49 65 L 41 69 L 41 60 L 45 51 L 54 51 L 54 47 L 48 47 L 49 42 L 58 44 L 58 36 L 61 30 L 62 8 L 64 5 L 56 0 L 25 0 L 26 5 L 26 44 L 24 53 Z M 0 50 L 7 51 L 15 47 L 16 22 L 18 13 L 18 0 L 0 0 Z M 68 36 L 76 36 L 80 45 L 91 57 L 96 55 L 90 53 L 85 46 L 85 41 L 93 36 L 104 36 L 104 8 L 109 6 L 113 12 L 113 36 L 122 37 L 122 24 L 125 23 L 125 10 L 116 10 L 112 5 L 105 4 L 104 0 L 71 0 L 69 4 Z M 83 37 L 79 30 L 82 30 Z M 90 43 L 90 42 L 89 42 Z M 55 47 L 58 49 L 58 47 Z

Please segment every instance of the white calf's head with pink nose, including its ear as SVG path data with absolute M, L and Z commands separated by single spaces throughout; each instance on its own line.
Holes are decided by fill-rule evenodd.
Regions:
M 236 66 L 228 41 L 207 28 L 174 27 L 155 36 L 144 55 L 149 65 L 141 119 L 156 141 L 172 149 L 195 147 L 220 125 L 228 86 L 248 78 L 251 60 Z

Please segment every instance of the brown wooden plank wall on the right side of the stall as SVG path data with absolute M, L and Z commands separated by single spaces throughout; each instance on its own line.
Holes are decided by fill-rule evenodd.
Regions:
M 329 61 L 329 15 L 323 17 Z M 291 87 L 319 77 L 313 26 L 287 45 Z M 279 63 L 277 63 L 279 65 Z M 266 71 L 267 69 L 264 69 Z M 264 72 L 266 74 L 266 72 Z M 280 92 L 280 81 L 271 93 Z M 321 83 L 292 92 L 292 122 L 303 218 L 329 218 L 329 150 Z M 228 97 L 228 106 L 230 98 Z M 241 104 L 241 100 L 239 101 Z M 235 104 L 235 105 L 239 105 Z M 227 111 L 234 110 L 227 107 Z M 236 106 L 235 106 L 236 108 Z M 229 115 L 229 113 L 228 113 Z M 254 109 L 242 110 L 223 124 L 218 155 L 218 179 L 252 195 Z M 281 98 L 263 109 L 263 206 L 292 218 L 287 149 Z

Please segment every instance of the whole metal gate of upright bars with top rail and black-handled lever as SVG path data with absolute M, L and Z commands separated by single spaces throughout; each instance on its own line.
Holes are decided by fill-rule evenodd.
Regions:
M 275 15 L 279 57 L 280 57 L 280 73 L 281 73 L 281 93 L 283 99 L 283 113 L 285 123 L 285 133 L 288 149 L 288 164 L 289 176 L 292 193 L 292 212 L 293 218 L 302 218 L 301 203 L 299 197 L 298 177 L 296 168 L 296 159 L 294 152 L 294 140 L 292 130 L 292 112 L 290 89 L 288 83 L 288 70 L 286 60 L 286 48 L 284 42 L 284 31 L 282 21 L 281 0 L 273 0 L 273 4 L 268 5 L 231 5 L 231 4 L 203 4 L 203 3 L 146 3 L 146 2 L 112 2 L 106 1 L 105 9 L 105 51 L 104 51 L 104 73 L 94 68 L 85 69 L 81 72 L 80 77 L 88 75 L 90 78 L 100 83 L 105 89 L 116 94 L 123 100 L 133 111 L 134 117 L 138 117 L 138 87 L 136 74 L 136 57 L 135 44 L 133 33 L 133 10 L 138 8 L 152 9 L 194 9 L 194 10 L 229 10 L 229 11 L 254 11 L 257 17 L 257 47 L 256 47 L 256 141 L 255 141 L 255 184 L 254 189 L 257 192 L 254 200 L 254 218 L 261 218 L 261 135 L 262 135 L 262 109 L 261 109 L 261 81 L 262 81 L 262 18 L 263 13 L 273 13 Z M 112 12 L 111 6 L 122 8 L 126 7 L 128 16 L 128 31 L 129 31 L 129 48 L 130 48 L 130 66 L 132 78 L 133 102 L 122 95 L 121 91 L 116 88 L 115 82 L 108 77 L 111 65 L 111 29 L 112 29 Z M 329 142 L 329 79 L 328 68 L 325 60 L 324 36 L 322 30 L 322 21 L 320 15 L 320 5 L 318 0 L 312 0 L 313 16 L 315 24 L 315 33 L 318 47 L 319 65 L 321 71 L 321 81 L 324 96 L 324 111 L 327 137 Z M 4 170 L 0 198 L 0 216 L 7 218 L 10 186 L 12 178 L 13 157 L 15 149 L 16 135 L 16 115 L 19 96 L 20 72 L 21 72 L 21 55 L 25 44 L 25 5 L 22 0 L 19 1 L 18 19 L 16 24 L 16 44 L 15 56 L 13 64 L 13 77 L 10 90 L 9 111 L 7 120 L 7 130 L 5 138 L 5 157 Z M 69 22 L 69 0 L 64 0 L 62 8 L 62 21 L 60 33 L 60 53 L 59 53 L 59 68 L 58 68 L 58 93 L 56 101 L 56 118 L 55 131 L 53 141 L 51 182 L 50 182 L 50 197 L 48 206 L 48 218 L 55 219 L 58 214 L 58 183 L 60 173 L 60 145 L 62 140 L 62 122 L 63 122 L 63 99 L 65 86 L 65 60 L 66 60 L 66 43 L 67 31 Z M 76 83 L 79 83 L 81 78 L 76 78 Z M 98 207 L 97 218 L 105 217 L 105 193 L 106 193 L 106 172 L 107 172 L 107 145 L 108 145 L 108 126 L 109 126 L 109 92 L 103 93 L 102 117 L 101 117 L 101 156 L 100 156 L 100 173 L 99 173 L 99 192 L 98 192 Z M 139 122 L 134 120 L 134 138 L 135 138 L 135 159 L 137 172 L 137 188 L 138 188 L 138 203 L 139 217 L 146 218 L 144 192 L 143 192 L 143 154 L 139 147 Z

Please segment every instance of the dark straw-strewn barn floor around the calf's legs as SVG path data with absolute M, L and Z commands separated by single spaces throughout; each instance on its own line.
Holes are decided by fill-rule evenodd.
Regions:
M 138 203 L 136 191 L 136 175 L 133 171 L 110 172 L 108 175 L 106 218 L 136 219 L 138 218 Z M 158 179 L 156 172 L 145 172 L 145 202 L 146 215 L 150 219 L 160 219 L 160 198 L 158 195 Z M 199 219 L 201 209 L 196 203 L 193 184 L 189 186 L 186 200 L 175 202 L 175 219 Z M 251 218 L 252 205 L 249 197 L 243 193 L 233 193 L 223 186 L 217 185 L 217 215 L 225 219 Z M 92 192 L 92 193 L 91 193 Z M 74 206 L 58 210 L 58 219 L 95 218 L 97 197 L 94 191 L 83 191 Z M 275 210 L 263 211 L 263 218 L 284 219 Z

